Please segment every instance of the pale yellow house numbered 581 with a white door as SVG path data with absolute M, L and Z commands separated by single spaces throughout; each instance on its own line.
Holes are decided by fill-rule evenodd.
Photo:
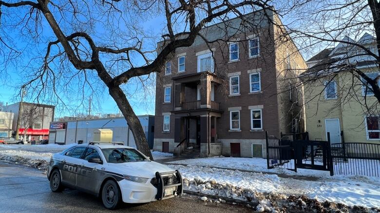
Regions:
M 378 54 L 376 39 L 368 33 L 358 41 L 349 37 L 342 40 Z M 379 144 L 378 100 L 366 81 L 353 71 L 358 69 L 375 79 L 380 74 L 375 58 L 358 46 L 342 42 L 335 48 L 324 49 L 307 64 L 310 68 L 301 77 L 309 138 L 324 141 L 330 132 L 331 143 L 344 140 Z

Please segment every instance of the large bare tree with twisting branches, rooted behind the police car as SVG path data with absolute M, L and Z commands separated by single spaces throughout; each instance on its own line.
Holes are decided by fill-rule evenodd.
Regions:
M 0 0 L 0 43 L 1 49 L 5 49 L 1 51 L 7 64 L 8 59 L 21 54 L 15 34 L 10 33 L 15 28 L 32 39 L 32 46 L 40 49 L 46 45 L 46 49 L 38 51 L 42 58 L 37 55 L 33 59 L 35 64 L 28 67 L 33 72 L 24 84 L 38 88 L 37 96 L 48 93 L 60 97 L 59 80 L 66 78 L 62 86 L 67 88 L 67 82 L 73 81 L 74 76 L 76 81 L 87 84 L 86 88 L 96 91 L 93 78 L 97 76 L 102 82 L 99 88 L 108 89 L 127 120 L 137 148 L 152 158 L 144 131 L 126 97 L 130 91 L 125 84 L 132 79 L 144 82 L 146 76 L 150 78 L 152 73 L 162 72 L 175 49 L 191 46 L 209 23 L 228 16 L 242 17 L 247 11 L 275 12 L 269 3 L 263 0 Z M 165 14 L 165 27 L 161 37 L 164 43 L 155 55 L 154 39 L 138 22 L 157 13 Z

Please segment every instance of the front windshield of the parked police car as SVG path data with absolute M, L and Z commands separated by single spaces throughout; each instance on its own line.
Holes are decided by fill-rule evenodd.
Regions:
M 133 148 L 104 148 L 104 157 L 108 163 L 127 163 L 144 161 L 146 158 Z

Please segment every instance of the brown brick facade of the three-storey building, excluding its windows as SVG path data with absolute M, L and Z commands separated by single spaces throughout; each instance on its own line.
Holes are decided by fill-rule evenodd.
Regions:
M 197 140 L 197 133 L 194 131 L 198 131 L 198 124 L 198 128 L 199 126 L 202 128 L 200 130 L 202 135 L 198 139 L 201 145 L 201 156 L 213 155 L 212 150 L 210 151 L 213 147 L 207 144 L 220 144 L 220 154 L 229 156 L 230 143 L 240 143 L 242 157 L 257 155 L 257 153 L 252 154 L 252 144 L 261 145 L 262 156 L 265 157 L 265 131 L 279 136 L 280 131 L 285 130 L 280 127 L 280 117 L 286 116 L 285 111 L 288 110 L 286 107 L 279 109 L 277 54 L 273 31 L 273 25 L 267 24 L 259 30 L 259 33 L 246 32 L 234 36 L 233 39 L 239 42 L 239 61 L 232 63 L 228 62 L 228 42 L 211 44 L 215 58 L 215 71 L 214 74 L 209 75 L 197 75 L 197 53 L 209 49 L 205 43 L 194 43 L 189 48 L 177 49 L 176 55 L 171 60 L 171 75 L 164 75 L 162 72 L 157 76 L 154 149 L 162 151 L 162 142 L 169 142 L 169 150 L 172 152 L 183 139 L 187 138 L 188 141 L 194 142 Z M 249 58 L 247 38 L 257 33 L 260 41 L 260 53 L 257 57 Z M 186 68 L 185 72 L 178 73 L 177 56 L 182 55 L 185 55 Z M 260 73 L 261 91 L 250 93 L 249 75 L 255 72 Z M 229 76 L 231 74 L 239 75 L 240 95 L 238 96 L 229 94 Z M 181 76 L 186 77 L 181 78 Z M 212 109 L 214 105 L 211 106 L 213 104 L 210 100 L 211 92 L 210 88 L 206 86 L 211 83 L 215 85 L 214 102 L 219 103 L 218 110 Z M 179 108 L 179 106 L 185 106 L 181 105 L 183 102 L 197 100 L 197 84 L 201 86 L 200 104 L 205 108 L 188 111 Z M 170 103 L 163 103 L 164 86 L 171 86 Z M 181 87 L 184 87 L 182 92 Z M 230 130 L 229 109 L 240 110 L 240 131 Z M 262 130 L 251 130 L 251 109 L 262 110 Z M 168 132 L 163 131 L 163 114 L 170 114 L 171 117 L 170 131 Z M 189 123 L 186 123 L 187 119 Z M 189 133 L 187 133 L 188 129 L 190 129 Z M 175 134 L 175 131 L 180 132 Z M 206 151 L 203 150 L 205 147 Z

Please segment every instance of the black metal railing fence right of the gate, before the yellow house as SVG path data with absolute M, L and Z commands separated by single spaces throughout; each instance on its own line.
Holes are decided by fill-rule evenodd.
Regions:
M 331 144 L 334 173 L 380 177 L 380 144 Z

